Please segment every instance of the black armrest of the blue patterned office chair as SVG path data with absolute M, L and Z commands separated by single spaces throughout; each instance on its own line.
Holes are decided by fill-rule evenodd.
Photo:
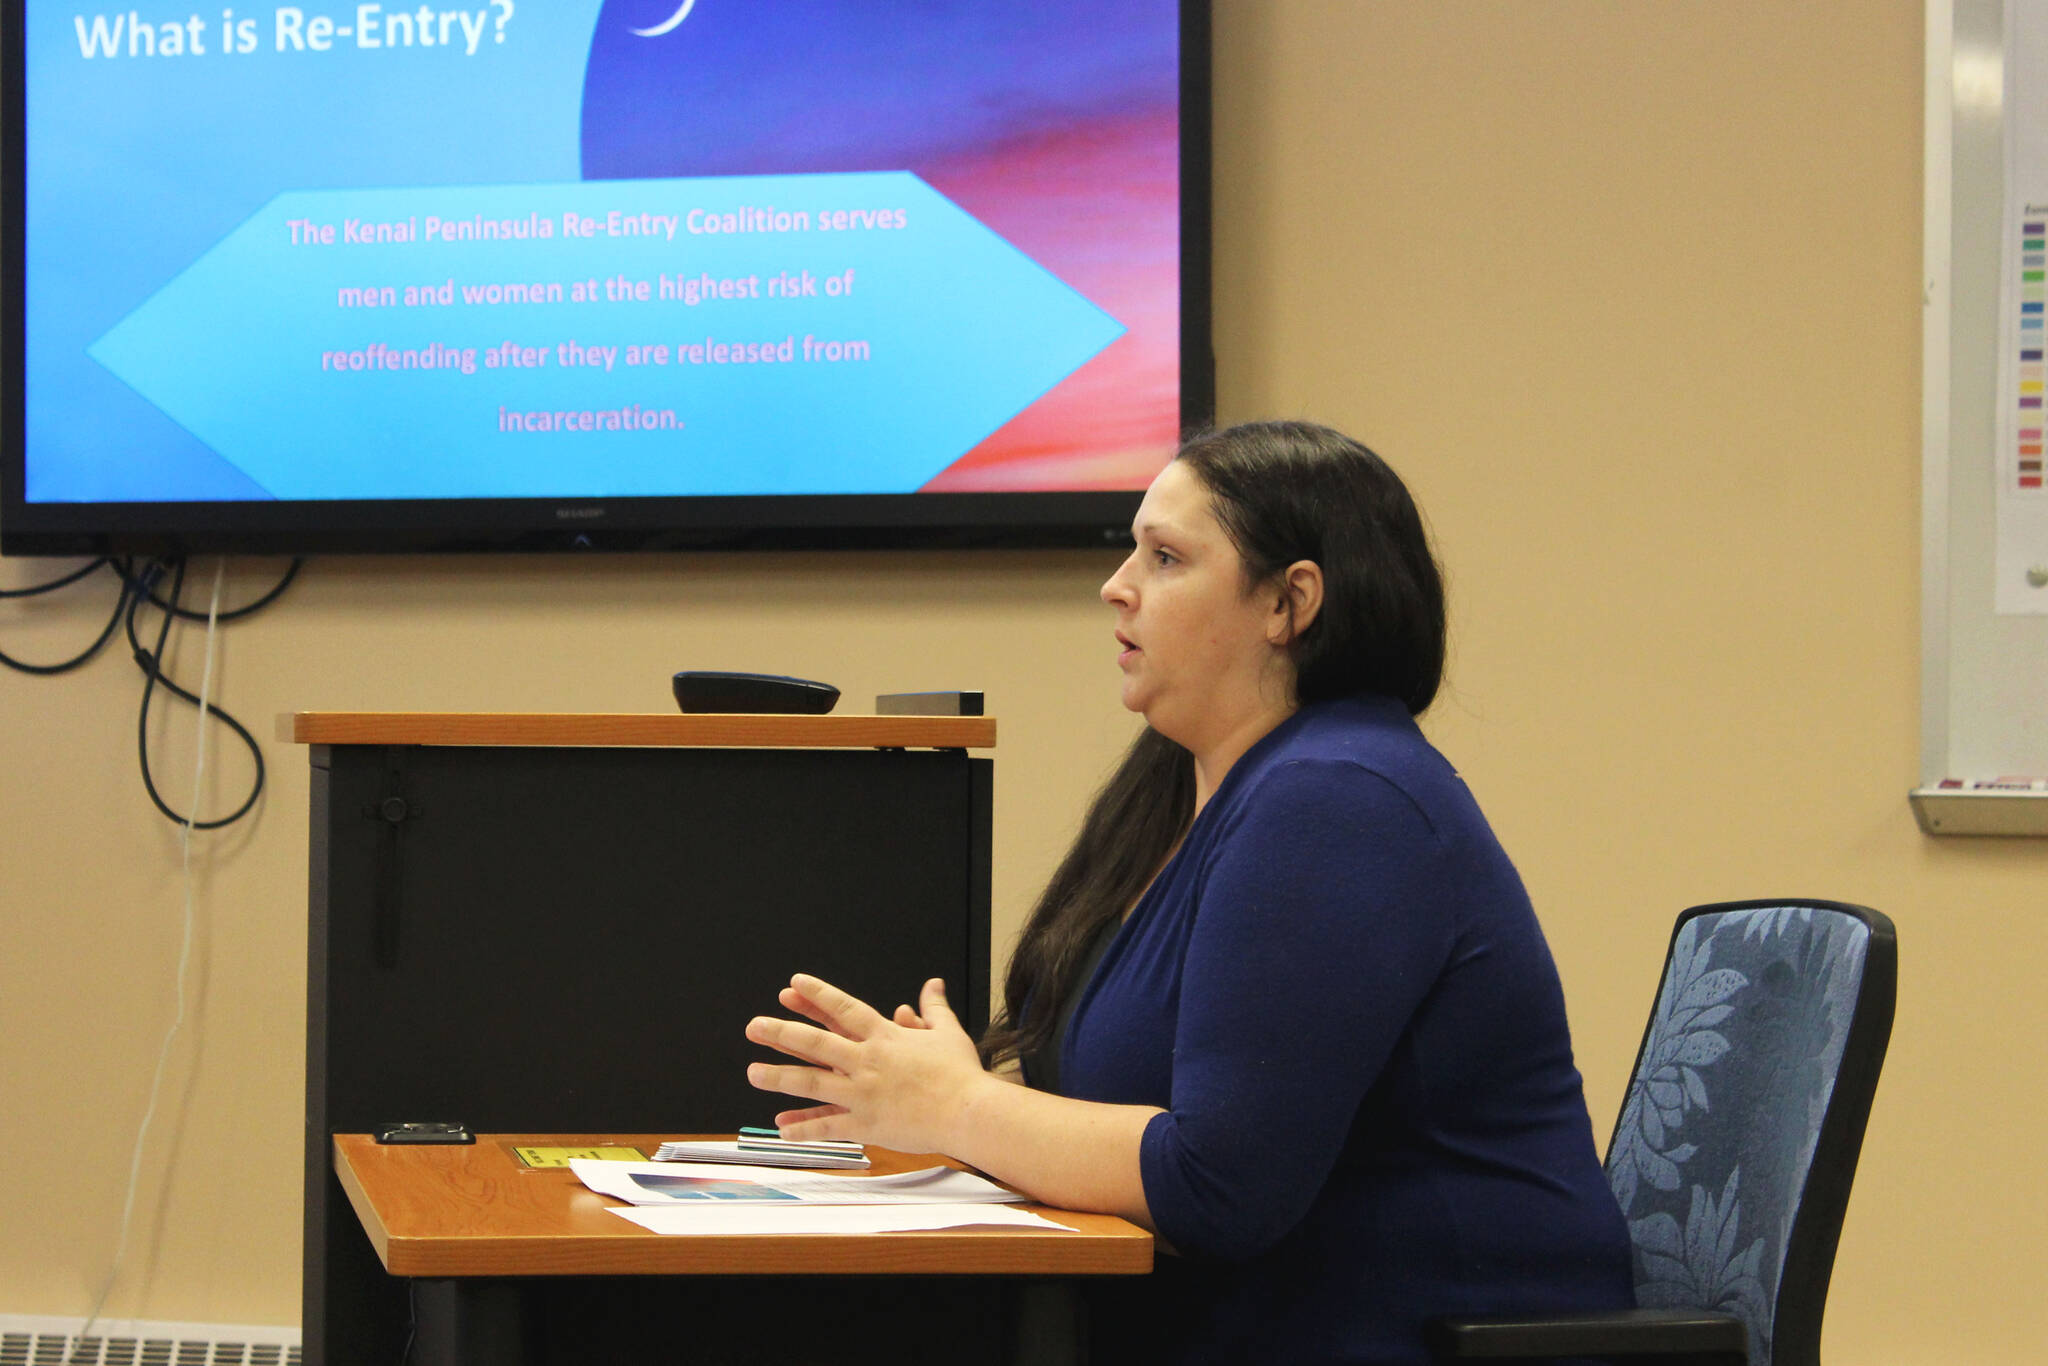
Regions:
M 1698 1366 L 1749 1360 L 1749 1329 L 1704 1309 L 1614 1309 L 1579 1315 L 1436 1319 L 1430 1352 L 1440 1360 L 1608 1356 L 1688 1360 Z

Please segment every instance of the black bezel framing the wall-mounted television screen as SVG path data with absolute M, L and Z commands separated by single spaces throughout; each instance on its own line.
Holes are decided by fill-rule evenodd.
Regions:
M 408 498 L 31 504 L 25 4 L 0 0 L 0 555 L 1100 547 L 1130 539 L 1141 489 L 674 498 Z M 1180 420 L 1214 416 L 1210 348 L 1210 14 L 1180 0 Z

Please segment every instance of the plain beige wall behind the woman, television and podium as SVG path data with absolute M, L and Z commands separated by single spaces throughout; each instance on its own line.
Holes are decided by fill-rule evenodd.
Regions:
M 1679 907 L 1892 913 L 1898 1028 L 1829 1356 L 1995 1364 L 2040 1356 L 2017 1307 L 2048 1253 L 2028 1061 L 2048 846 L 1935 844 L 1905 803 L 1919 115 L 1909 0 L 1219 0 L 1217 350 L 1225 418 L 1346 426 L 1434 520 L 1456 637 L 1430 729 L 1544 913 L 1602 1130 Z M 221 698 L 258 721 L 659 709 L 686 666 L 852 698 L 981 686 L 1001 942 L 1128 733 L 1106 569 L 324 559 L 231 631 Z M 229 596 L 268 571 L 236 565 Z M 0 608 L 0 649 L 88 639 L 96 594 Z M 86 1311 L 172 1010 L 178 848 L 133 772 L 135 696 L 117 657 L 0 676 L 0 1311 Z M 184 756 L 170 737 L 180 801 Z M 303 754 L 268 760 L 260 819 L 199 846 L 193 1028 L 123 1315 L 297 1319 L 307 782 Z M 238 764 L 221 752 L 221 795 Z

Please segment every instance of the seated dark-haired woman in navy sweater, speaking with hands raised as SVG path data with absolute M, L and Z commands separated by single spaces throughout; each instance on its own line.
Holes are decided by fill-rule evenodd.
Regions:
M 1528 893 L 1415 725 L 1444 588 L 1401 479 L 1327 428 L 1188 442 L 1102 586 L 1145 731 L 1012 956 L 981 1049 L 926 983 L 748 1038 L 791 1139 L 946 1153 L 1178 1257 L 1098 1352 L 1425 1362 L 1438 1315 L 1632 1303 Z M 1026 1085 L 1014 1085 L 1022 1061 Z M 995 1069 L 991 1069 L 995 1067 Z M 1118 1360 L 1118 1358 L 1106 1358 Z

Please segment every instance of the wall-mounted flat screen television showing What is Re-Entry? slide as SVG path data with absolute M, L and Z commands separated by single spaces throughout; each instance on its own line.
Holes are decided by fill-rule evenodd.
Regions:
M 440 4 L 0 2 L 0 549 L 1102 543 L 1208 418 L 1206 0 Z

